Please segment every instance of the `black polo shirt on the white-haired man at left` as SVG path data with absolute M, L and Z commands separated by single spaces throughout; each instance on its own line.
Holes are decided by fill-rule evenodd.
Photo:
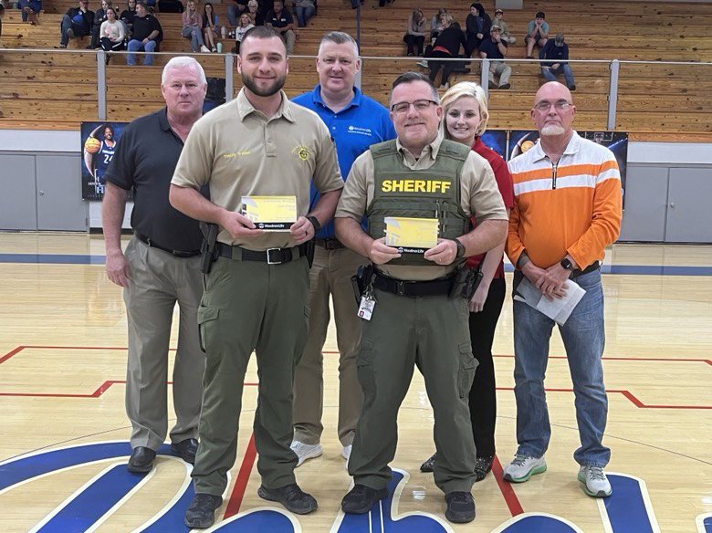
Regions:
M 183 141 L 173 133 L 166 109 L 133 120 L 121 133 L 104 177 L 133 189 L 131 227 L 158 246 L 192 252 L 200 249 L 198 222 L 168 202 L 168 191 Z

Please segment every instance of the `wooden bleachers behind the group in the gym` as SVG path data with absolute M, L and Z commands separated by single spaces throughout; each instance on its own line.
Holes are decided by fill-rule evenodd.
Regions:
M 6 9 L 0 46 L 46 48 L 58 46 L 59 20 L 74 2 L 45 3 L 41 26 L 20 22 L 19 11 Z M 98 2 L 92 2 L 96 7 Z M 417 0 L 399 0 L 376 7 L 366 0 L 361 9 L 361 54 L 364 59 L 361 85 L 364 92 L 387 103 L 393 78 L 408 69 L 425 71 L 415 65 L 417 58 L 403 57 L 405 20 Z M 421 3 L 422 5 L 422 3 Z M 494 0 L 484 3 L 494 13 Z M 427 7 L 430 17 L 438 5 Z M 449 8 L 464 26 L 468 3 Z M 122 9 L 123 6 L 120 5 Z M 215 10 L 226 23 L 226 5 Z M 534 92 L 542 82 L 539 63 L 524 59 L 523 36 L 533 14 L 545 11 L 550 33 L 563 31 L 572 59 L 645 61 L 712 61 L 712 5 L 603 2 L 526 2 L 524 11 L 508 11 L 505 20 L 518 43 L 510 47 L 512 89 L 490 91 L 490 122 L 493 129 L 527 129 Z M 431 11 L 433 13 L 431 13 Z M 186 53 L 188 40 L 180 36 L 177 14 L 158 14 L 164 40 L 162 52 Z M 345 0 L 320 0 L 319 15 L 309 26 L 298 29 L 296 55 L 314 55 L 320 37 L 340 29 L 355 36 L 355 18 Z M 224 51 L 232 47 L 223 40 Z M 70 41 L 69 48 L 83 49 L 89 37 Z M 162 105 L 159 90 L 162 65 L 169 56 L 156 57 L 155 66 L 125 66 L 124 57 L 114 57 L 107 68 L 107 114 L 110 120 L 132 120 Z M 225 75 L 224 57 L 199 55 L 208 76 Z M 472 72 L 455 75 L 451 83 L 479 81 L 479 64 Z M 606 129 L 609 91 L 607 63 L 573 63 L 579 108 L 577 127 Z M 78 128 L 81 120 L 96 120 L 97 63 L 93 52 L 47 51 L 43 53 L 0 53 L 0 128 Z M 317 81 L 313 58 L 292 57 L 286 90 L 289 96 L 313 88 Z M 438 78 L 439 81 L 439 78 Z M 240 87 L 235 77 L 236 89 Z M 616 129 L 629 131 L 633 138 L 712 139 L 712 66 L 622 63 L 619 78 Z

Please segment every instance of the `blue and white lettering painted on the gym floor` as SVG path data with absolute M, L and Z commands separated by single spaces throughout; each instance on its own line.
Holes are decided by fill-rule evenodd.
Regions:
M 190 465 L 173 456 L 170 446 L 164 444 L 158 454 L 185 467 L 183 483 L 161 513 L 150 517 L 136 531 L 157 533 L 188 531 L 183 523 L 183 513 L 194 496 L 190 480 Z M 56 475 L 71 468 L 107 463 L 96 476 L 88 479 L 71 496 L 50 512 L 32 531 L 86 531 L 99 528 L 131 496 L 148 483 L 156 470 L 146 476 L 136 476 L 126 469 L 131 455 L 128 442 L 80 444 L 38 453 L 22 455 L 0 463 L 0 496 L 10 490 L 40 477 Z M 117 461 L 111 461 L 117 459 Z M 609 474 L 613 495 L 597 500 L 602 523 L 613 533 L 655 533 L 659 531 L 647 488 L 642 479 L 624 474 Z M 393 470 L 393 480 L 388 485 L 388 497 L 375 504 L 367 515 L 335 517 L 330 533 L 452 533 L 453 529 L 442 517 L 428 513 L 399 514 L 398 505 L 403 488 L 409 479 L 407 472 Z M 696 518 L 699 533 L 712 533 L 712 517 Z M 270 533 L 300 533 L 298 518 L 281 508 L 257 507 L 216 524 L 208 531 Z M 512 517 L 493 533 L 581 533 L 571 521 L 542 513 L 523 513 Z

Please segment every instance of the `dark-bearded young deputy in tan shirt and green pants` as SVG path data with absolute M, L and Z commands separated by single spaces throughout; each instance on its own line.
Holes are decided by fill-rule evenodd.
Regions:
M 205 276 L 198 323 L 207 357 L 201 444 L 193 470 L 189 528 L 209 528 L 236 459 L 242 383 L 257 353 L 259 397 L 255 443 L 262 476 L 258 495 L 306 514 L 317 501 L 295 483 L 292 381 L 309 324 L 305 246 L 339 201 L 343 180 L 329 131 L 316 113 L 289 102 L 284 42 L 265 26 L 249 30 L 237 69 L 244 88 L 199 120 L 185 143 L 171 187 L 176 209 L 219 225 L 218 257 Z M 321 193 L 309 213 L 309 186 Z M 210 187 L 210 201 L 198 193 Z M 240 214 L 246 195 L 293 195 L 297 221 L 265 232 Z

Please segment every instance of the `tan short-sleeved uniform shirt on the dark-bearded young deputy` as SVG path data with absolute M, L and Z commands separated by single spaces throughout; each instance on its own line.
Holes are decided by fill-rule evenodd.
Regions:
M 173 185 L 210 186 L 210 201 L 241 212 L 243 196 L 294 195 L 297 214 L 309 214 L 311 178 L 319 193 L 343 180 L 329 130 L 314 111 L 293 104 L 282 92 L 277 113 L 267 120 L 240 90 L 237 98 L 195 122 L 173 173 Z M 235 239 L 220 228 L 217 240 L 250 250 L 295 246 L 288 232 Z

